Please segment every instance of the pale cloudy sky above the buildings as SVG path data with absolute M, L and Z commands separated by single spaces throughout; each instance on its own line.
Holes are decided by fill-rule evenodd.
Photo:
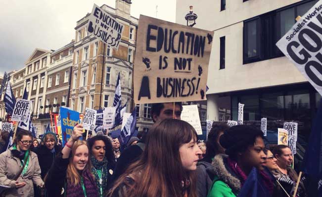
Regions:
M 0 76 L 23 68 L 36 48 L 56 50 L 75 39 L 76 21 L 94 3 L 115 8 L 115 0 L 1 0 Z M 132 0 L 131 15 L 140 14 L 175 22 L 176 0 Z

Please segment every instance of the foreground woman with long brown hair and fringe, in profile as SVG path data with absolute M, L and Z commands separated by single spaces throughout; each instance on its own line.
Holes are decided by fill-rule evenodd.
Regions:
M 196 197 L 197 133 L 187 122 L 164 119 L 146 136 L 141 158 L 115 182 L 109 197 Z

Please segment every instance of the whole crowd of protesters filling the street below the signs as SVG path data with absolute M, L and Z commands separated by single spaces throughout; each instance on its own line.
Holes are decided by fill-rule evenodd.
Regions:
M 20 130 L 0 154 L 0 197 L 237 197 L 254 171 L 261 197 L 293 196 L 298 174 L 289 147 L 266 147 L 254 127 L 217 123 L 198 141 L 181 112 L 179 102 L 153 104 L 154 124 L 125 149 L 101 131 L 80 140 L 82 124 L 64 147 L 55 133 L 39 141 Z M 1 150 L 7 138 L 2 132 Z M 295 196 L 308 197 L 304 179 Z

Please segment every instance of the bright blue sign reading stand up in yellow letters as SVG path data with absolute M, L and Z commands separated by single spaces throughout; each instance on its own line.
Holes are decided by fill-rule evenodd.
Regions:
M 73 128 L 79 124 L 79 113 L 65 107 L 60 107 L 62 146 L 68 142 L 73 133 Z

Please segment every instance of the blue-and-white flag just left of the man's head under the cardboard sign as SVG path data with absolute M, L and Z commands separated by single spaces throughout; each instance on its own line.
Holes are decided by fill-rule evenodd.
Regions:
M 121 131 L 119 141 L 122 149 L 125 148 L 130 138 L 135 133 L 136 125 L 137 125 L 137 107 L 134 108 L 130 118 L 126 121 L 126 124 Z

